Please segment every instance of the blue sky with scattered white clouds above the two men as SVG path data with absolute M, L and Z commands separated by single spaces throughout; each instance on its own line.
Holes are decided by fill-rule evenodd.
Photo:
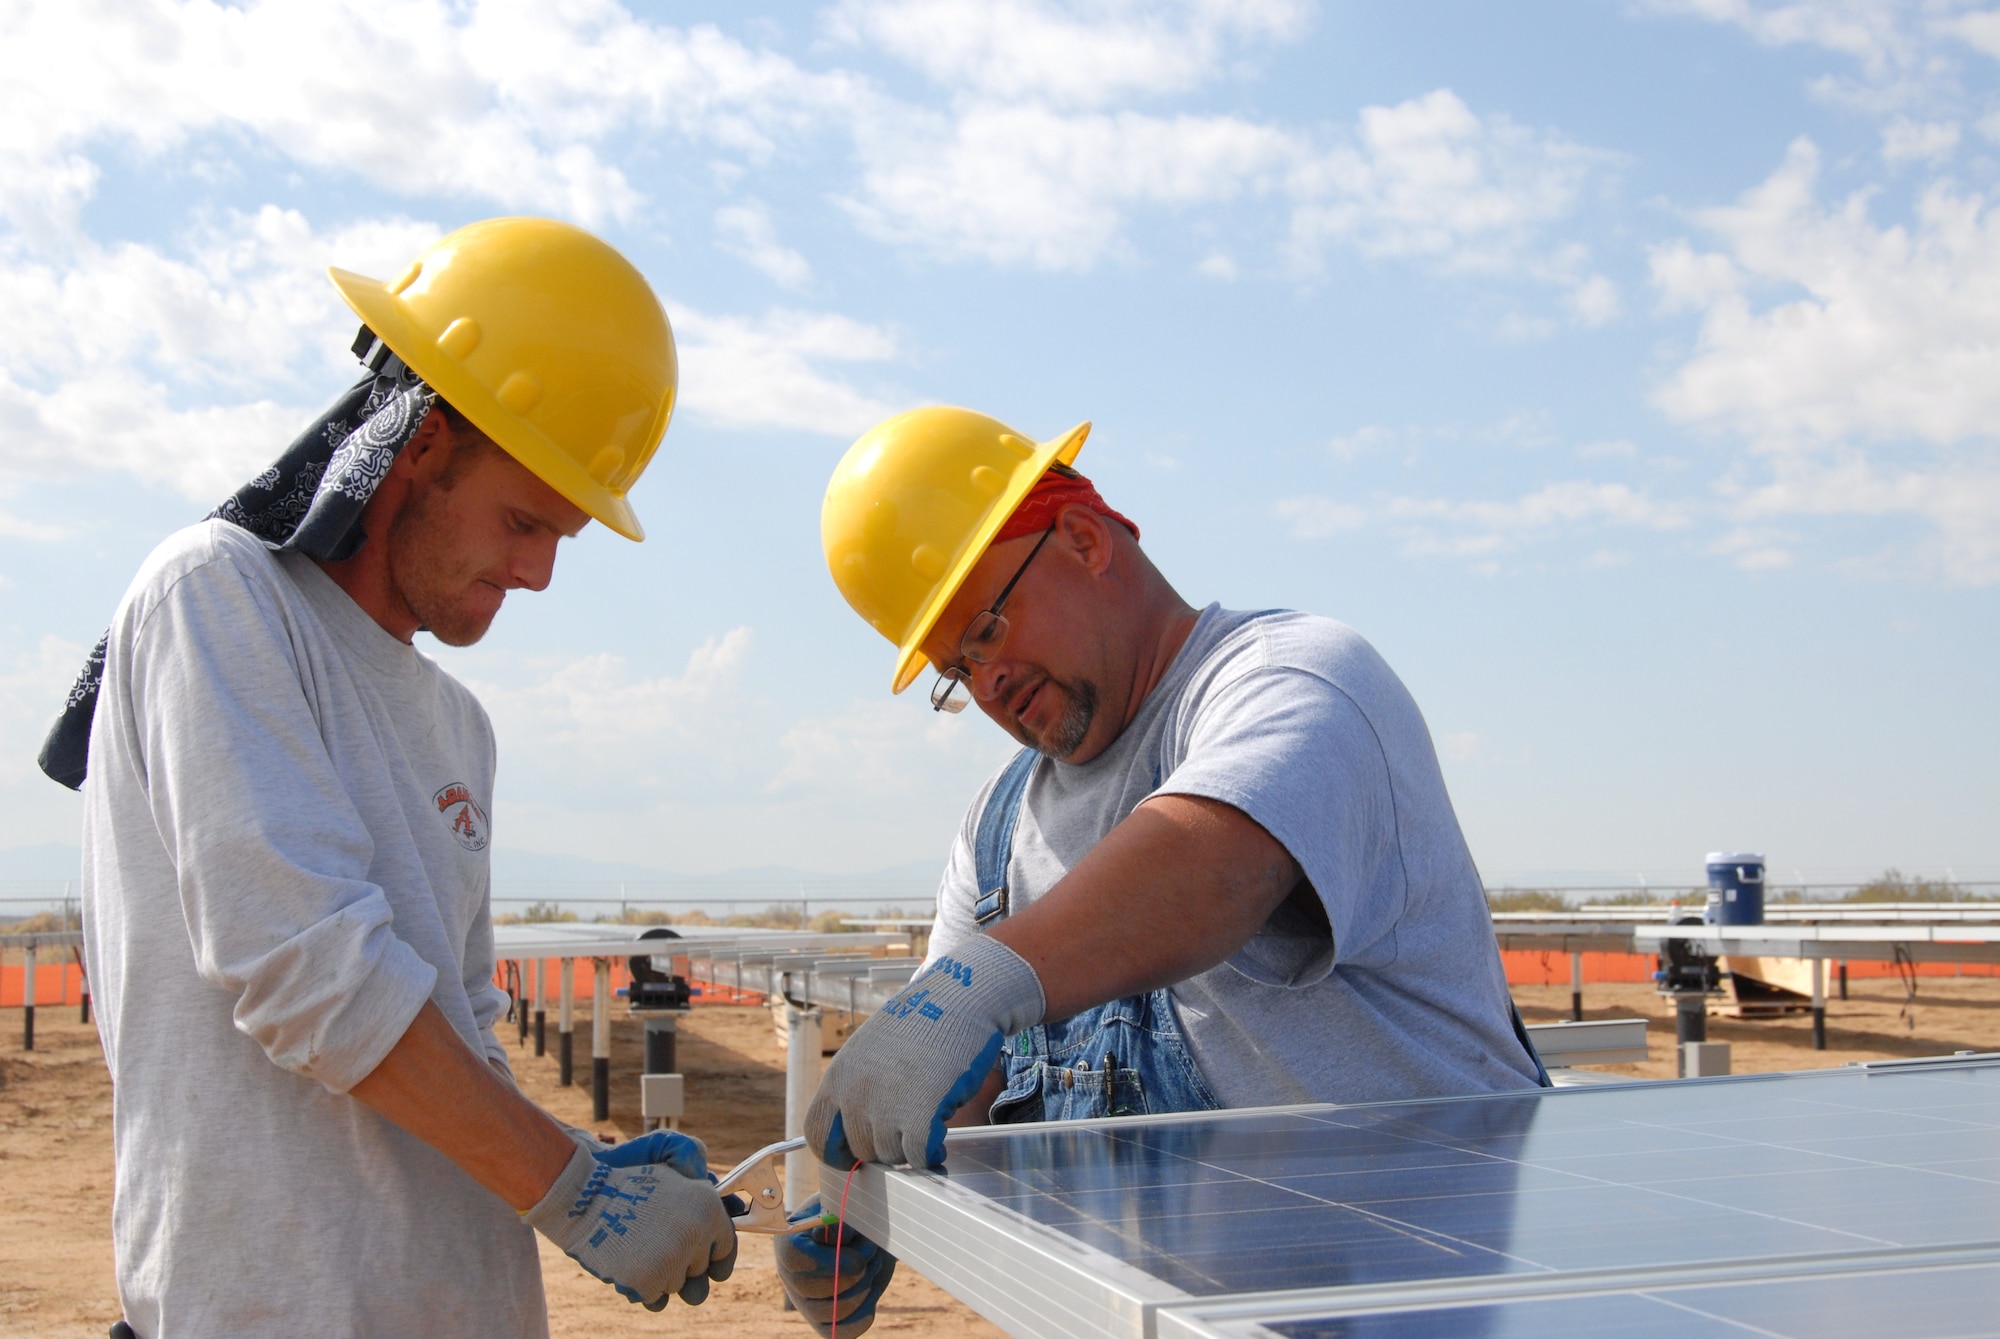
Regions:
M 936 861 L 1008 753 L 826 578 L 926 402 L 1196 604 L 1362 630 L 1488 881 L 2000 879 L 2000 8 L 610 0 L 0 18 L 0 863 L 146 550 L 352 376 L 338 264 L 506 212 L 654 282 L 682 408 L 486 644 L 496 843 Z

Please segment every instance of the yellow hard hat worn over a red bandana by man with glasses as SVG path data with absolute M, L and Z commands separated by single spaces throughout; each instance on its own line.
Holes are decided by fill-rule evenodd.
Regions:
M 870 428 L 820 504 L 834 586 L 900 656 L 892 691 L 924 668 L 924 638 L 986 546 L 1050 464 L 1084 450 L 1090 424 L 1036 442 L 1000 420 L 930 406 Z

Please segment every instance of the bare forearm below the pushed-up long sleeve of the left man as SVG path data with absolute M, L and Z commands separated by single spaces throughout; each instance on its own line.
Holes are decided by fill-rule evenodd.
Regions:
M 350 1093 L 514 1209 L 542 1199 L 576 1153 L 562 1125 L 468 1047 L 434 1003 Z

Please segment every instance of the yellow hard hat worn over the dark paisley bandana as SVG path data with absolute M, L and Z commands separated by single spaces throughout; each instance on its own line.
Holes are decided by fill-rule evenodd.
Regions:
M 626 492 L 674 414 L 674 332 L 646 278 L 582 228 L 490 218 L 394 284 L 326 276 L 378 340 L 536 478 L 628 540 Z

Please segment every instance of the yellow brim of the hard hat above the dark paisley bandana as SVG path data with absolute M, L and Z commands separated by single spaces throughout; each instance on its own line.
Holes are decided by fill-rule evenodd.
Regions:
M 396 358 L 410 364 L 410 370 L 424 378 L 426 386 L 472 420 L 500 450 L 608 530 L 634 542 L 646 538 L 646 528 L 640 526 L 638 514 L 632 512 L 632 504 L 626 502 L 624 494 L 616 494 L 590 478 L 540 428 L 506 410 L 470 372 L 440 354 L 410 324 L 402 302 L 388 290 L 388 284 L 336 266 L 326 268 L 326 278 L 332 280 L 342 302 L 368 324 L 368 330 Z

